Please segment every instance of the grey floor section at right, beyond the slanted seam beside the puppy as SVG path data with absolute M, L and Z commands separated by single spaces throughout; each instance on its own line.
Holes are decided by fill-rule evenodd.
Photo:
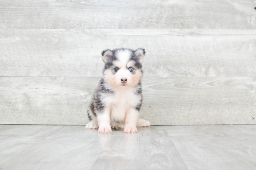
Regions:
M 189 170 L 255 169 L 255 125 L 166 126 Z

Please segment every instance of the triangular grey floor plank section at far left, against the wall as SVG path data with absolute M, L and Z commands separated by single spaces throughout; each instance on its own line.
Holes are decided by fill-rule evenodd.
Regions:
M 0 167 L 65 126 L 1 125 Z M 1 169 L 1 168 L 0 168 Z

